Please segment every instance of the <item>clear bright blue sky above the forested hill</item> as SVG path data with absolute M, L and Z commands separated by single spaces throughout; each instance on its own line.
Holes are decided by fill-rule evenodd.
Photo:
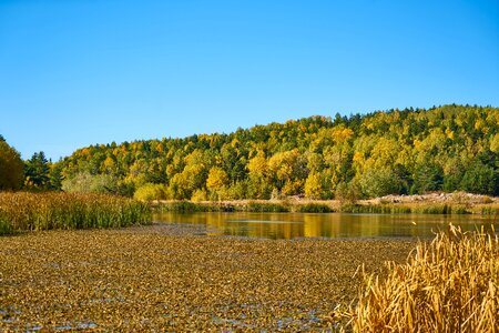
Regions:
M 498 0 L 0 0 L 23 159 L 446 103 L 499 105 Z

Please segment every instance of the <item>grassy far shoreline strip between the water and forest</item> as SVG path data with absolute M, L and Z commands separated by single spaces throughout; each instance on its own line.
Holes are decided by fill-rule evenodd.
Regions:
M 231 201 L 152 201 L 159 211 L 172 212 L 304 212 L 304 213 L 422 213 L 422 214 L 499 214 L 499 198 L 464 192 L 383 198 L 345 202 L 291 196 L 282 200 Z

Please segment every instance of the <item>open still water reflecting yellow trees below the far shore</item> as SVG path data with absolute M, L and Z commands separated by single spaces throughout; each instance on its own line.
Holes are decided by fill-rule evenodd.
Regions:
M 154 221 L 201 224 L 210 235 L 237 235 L 267 239 L 295 238 L 431 238 L 449 223 L 462 230 L 493 224 L 497 216 L 429 214 L 309 214 L 309 213 L 163 213 Z

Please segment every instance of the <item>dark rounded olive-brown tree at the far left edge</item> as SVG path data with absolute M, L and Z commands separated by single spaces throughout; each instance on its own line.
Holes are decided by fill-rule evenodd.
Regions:
M 22 176 L 21 155 L 0 135 L 0 191 L 20 189 Z

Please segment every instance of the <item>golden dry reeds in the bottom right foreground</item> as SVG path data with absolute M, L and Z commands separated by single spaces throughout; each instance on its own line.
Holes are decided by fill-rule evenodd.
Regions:
M 499 240 L 450 228 L 386 280 L 365 275 L 347 316 L 355 332 L 498 332 Z

